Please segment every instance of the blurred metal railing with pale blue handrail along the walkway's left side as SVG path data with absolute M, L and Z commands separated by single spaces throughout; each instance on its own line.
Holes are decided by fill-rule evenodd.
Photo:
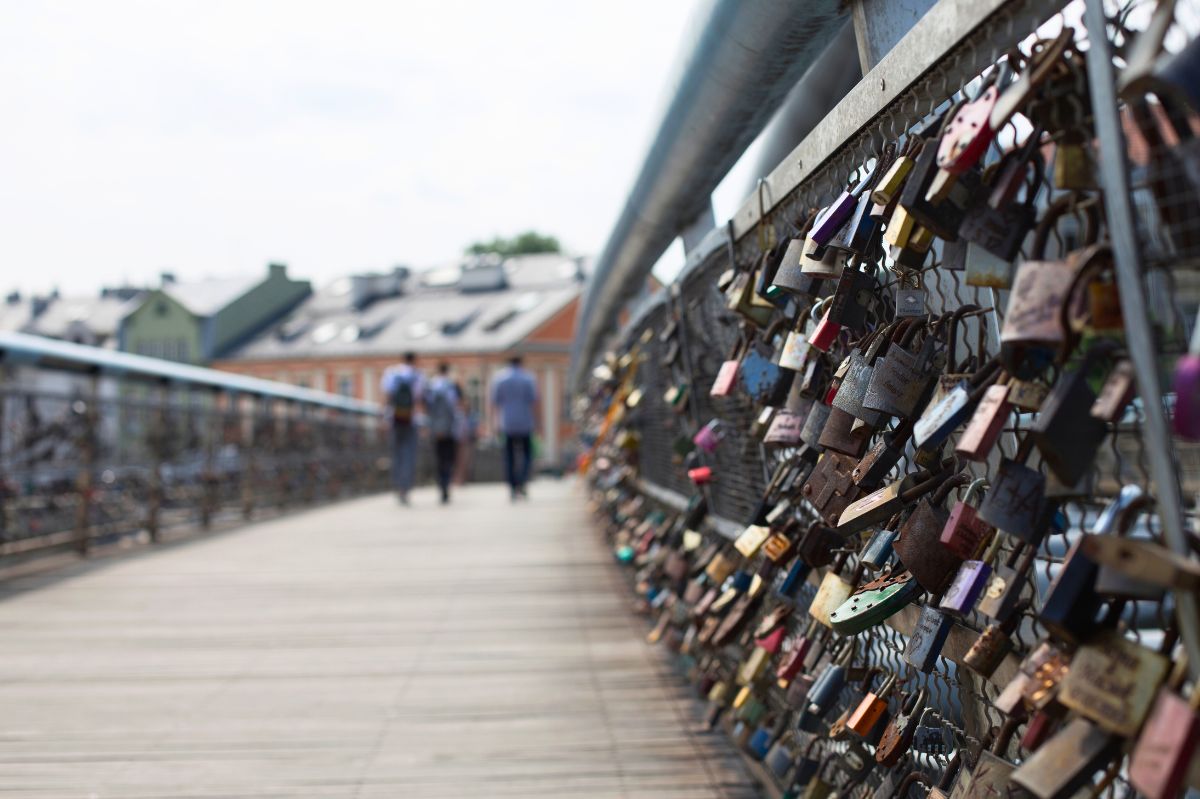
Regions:
M 0 565 L 382 491 L 379 409 L 0 334 Z

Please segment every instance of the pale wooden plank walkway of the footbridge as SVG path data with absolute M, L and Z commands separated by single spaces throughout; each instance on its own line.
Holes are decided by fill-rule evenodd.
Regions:
M 581 491 L 373 497 L 0 583 L 0 797 L 754 797 Z

